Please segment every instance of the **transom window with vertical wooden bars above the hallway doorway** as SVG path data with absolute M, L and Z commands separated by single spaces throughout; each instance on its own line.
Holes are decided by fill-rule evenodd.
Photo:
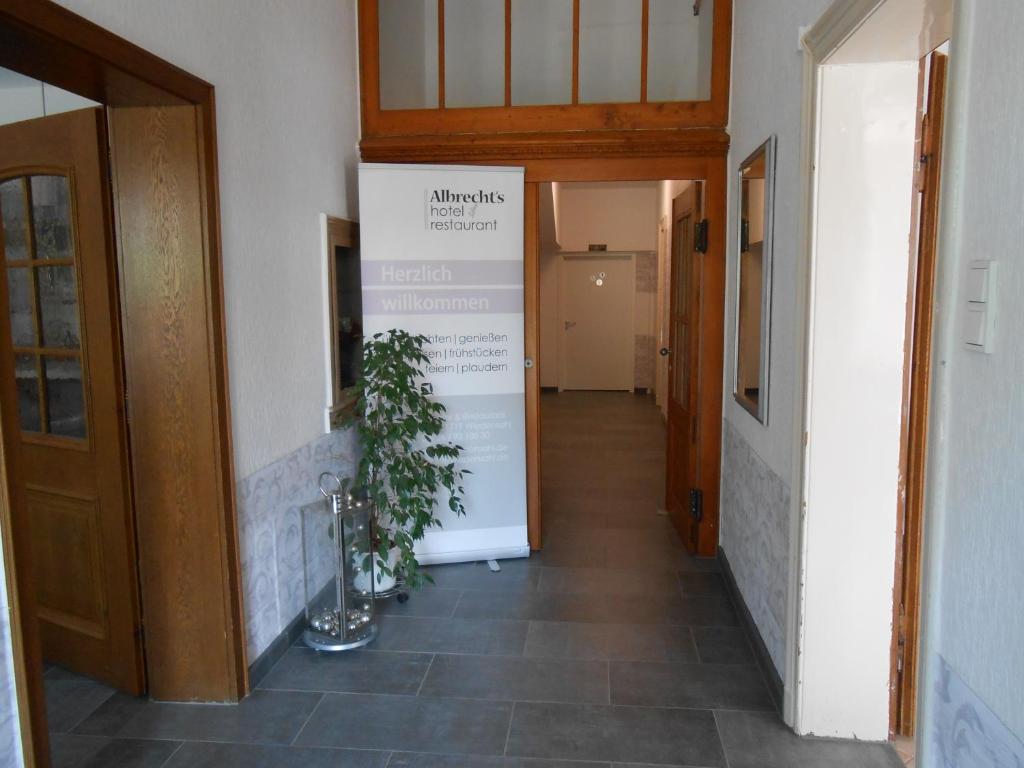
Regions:
M 714 0 L 379 0 L 382 110 L 705 101 Z

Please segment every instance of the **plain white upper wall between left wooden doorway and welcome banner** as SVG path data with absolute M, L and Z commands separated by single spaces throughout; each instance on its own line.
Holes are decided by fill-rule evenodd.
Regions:
M 356 214 L 355 3 L 61 0 L 212 83 L 234 470 L 323 430 L 318 214 Z

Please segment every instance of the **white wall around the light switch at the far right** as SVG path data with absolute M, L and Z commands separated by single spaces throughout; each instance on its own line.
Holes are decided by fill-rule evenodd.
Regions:
M 1016 0 L 956 5 L 925 521 L 928 766 L 949 760 L 954 736 L 999 765 L 1024 764 L 1024 177 L 1008 162 L 1024 155 L 1022 28 Z M 992 354 L 963 344 L 966 272 L 977 258 L 999 262 Z

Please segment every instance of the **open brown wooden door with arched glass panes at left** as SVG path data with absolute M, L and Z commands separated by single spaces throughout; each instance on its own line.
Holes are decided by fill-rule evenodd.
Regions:
M 144 687 L 102 110 L 0 127 L 3 423 L 43 657 Z

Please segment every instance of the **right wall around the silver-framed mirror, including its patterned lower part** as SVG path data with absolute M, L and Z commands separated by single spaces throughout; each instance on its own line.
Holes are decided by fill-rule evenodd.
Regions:
M 798 258 L 801 247 L 800 147 L 803 56 L 799 31 L 830 0 L 735 0 L 729 117 L 729 201 L 725 309 L 725 421 L 720 544 L 765 647 L 785 676 L 791 556 L 794 409 L 797 382 Z M 777 137 L 768 423 L 732 396 L 739 164 Z

